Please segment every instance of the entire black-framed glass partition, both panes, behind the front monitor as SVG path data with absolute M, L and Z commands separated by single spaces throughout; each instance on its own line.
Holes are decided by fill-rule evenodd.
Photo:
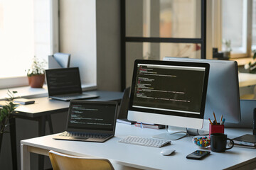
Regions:
M 136 59 L 206 58 L 206 0 L 121 0 L 122 89 Z

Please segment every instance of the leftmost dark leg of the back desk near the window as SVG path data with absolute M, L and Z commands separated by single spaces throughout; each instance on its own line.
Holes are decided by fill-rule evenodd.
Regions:
M 10 136 L 11 136 L 11 157 L 13 169 L 18 169 L 17 165 L 17 145 L 16 145 L 16 124 L 15 118 L 12 117 L 9 119 L 10 123 Z

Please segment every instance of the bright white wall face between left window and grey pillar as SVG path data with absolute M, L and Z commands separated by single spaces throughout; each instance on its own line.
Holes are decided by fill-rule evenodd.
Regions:
M 60 0 L 60 52 L 70 53 L 83 83 L 96 84 L 96 1 Z

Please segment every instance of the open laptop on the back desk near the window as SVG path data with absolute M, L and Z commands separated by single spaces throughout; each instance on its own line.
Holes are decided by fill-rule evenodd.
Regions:
M 78 67 L 47 69 L 46 80 L 48 96 L 53 99 L 70 101 L 73 99 L 98 97 L 96 95 L 82 93 Z

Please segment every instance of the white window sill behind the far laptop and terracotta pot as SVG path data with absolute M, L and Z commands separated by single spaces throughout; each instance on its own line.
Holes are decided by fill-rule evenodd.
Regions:
M 95 89 L 97 89 L 96 84 L 82 84 L 82 91 L 90 91 Z M 7 91 L 8 89 L 0 90 L 0 101 L 9 97 L 7 95 Z M 31 88 L 30 86 L 21 86 L 10 88 L 9 91 L 18 91 L 16 97 L 22 98 L 39 98 L 48 96 L 48 89 L 46 84 L 43 85 L 43 88 Z

